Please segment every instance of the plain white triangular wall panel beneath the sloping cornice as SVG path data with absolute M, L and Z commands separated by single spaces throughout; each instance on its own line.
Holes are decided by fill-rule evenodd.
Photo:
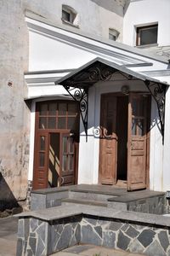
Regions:
M 77 68 L 94 59 L 87 51 L 30 32 L 29 71 Z M 81 55 L 81 58 L 80 58 Z

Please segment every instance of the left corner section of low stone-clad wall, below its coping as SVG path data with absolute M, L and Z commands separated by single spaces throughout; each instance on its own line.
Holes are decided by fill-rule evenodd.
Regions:
M 81 220 L 81 216 L 52 223 L 36 218 L 20 219 L 16 255 L 49 255 L 78 244 L 81 241 Z

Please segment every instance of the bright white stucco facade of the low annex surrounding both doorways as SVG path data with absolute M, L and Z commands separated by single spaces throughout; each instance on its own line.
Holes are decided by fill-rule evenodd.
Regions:
M 31 22 L 31 20 L 28 19 Z M 32 21 L 35 24 L 35 30 L 30 29 L 30 71 L 44 71 L 41 75 L 48 80 L 48 71 L 65 69 L 65 68 L 77 68 L 93 60 L 95 57 L 100 56 L 106 60 L 112 61 L 117 64 L 134 64 L 136 67 L 131 67 L 133 71 L 137 73 L 165 70 L 167 64 L 163 61 L 156 61 L 152 57 L 144 55 L 138 55 L 137 53 L 130 51 L 129 49 L 123 49 L 121 47 L 114 47 L 114 45 L 105 44 L 93 39 L 82 37 L 78 34 L 71 32 L 65 32 L 54 26 L 48 26 L 38 21 Z M 38 32 L 37 26 L 42 25 L 42 30 Z M 45 33 L 51 29 L 49 34 Z M 52 35 L 53 34 L 53 35 Z M 63 39 L 62 37 L 67 37 Z M 72 38 L 77 41 L 71 41 Z M 87 48 L 85 45 L 88 45 Z M 97 48 L 96 48 L 97 47 Z M 142 66 L 140 63 L 151 63 L 151 66 Z M 159 73 L 159 72 L 158 72 Z M 50 74 L 52 76 L 52 74 Z M 54 75 L 54 74 L 53 74 Z M 62 76 L 62 73 L 58 73 Z M 47 77 L 46 77 L 47 76 Z M 27 74 L 29 79 L 29 74 Z M 30 76 L 30 78 L 33 78 Z M 37 77 L 39 79 L 39 77 Z M 36 77 L 34 76 L 36 81 Z M 52 79 L 52 77 L 50 78 Z M 54 78 L 53 78 L 54 79 Z M 167 80 L 168 77 L 159 77 L 162 81 Z M 130 89 L 145 90 L 144 83 L 137 84 L 137 82 L 125 81 L 125 84 L 130 86 Z M 104 84 L 96 84 L 89 90 L 89 105 L 88 105 L 88 143 L 86 143 L 85 133 L 81 124 L 80 129 L 80 146 L 79 146 L 79 170 L 78 170 L 78 183 L 98 183 L 99 179 L 99 138 L 94 137 L 94 130 L 99 126 L 99 113 L 100 113 L 100 95 L 107 92 L 120 91 L 122 82 L 110 81 Z M 46 82 L 42 84 L 28 84 L 29 96 L 59 96 L 63 94 L 64 90 L 56 85 L 48 84 Z M 40 99 L 41 100 L 41 99 Z M 151 131 L 150 131 L 150 189 L 164 190 L 163 187 L 163 153 L 161 143 L 161 133 L 159 131 L 159 120 L 157 119 L 156 103 L 152 102 L 151 112 Z M 34 126 L 35 126 L 35 113 L 32 108 L 31 112 L 31 159 L 29 166 L 29 178 L 32 178 L 33 172 L 33 140 L 34 140 Z M 157 122 L 157 123 L 156 123 Z M 167 167 L 166 167 L 167 168 Z M 167 175 L 167 169 L 165 169 L 164 177 Z

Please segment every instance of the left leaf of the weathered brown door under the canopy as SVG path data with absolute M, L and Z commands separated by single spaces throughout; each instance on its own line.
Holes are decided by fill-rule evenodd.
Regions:
M 99 140 L 99 183 L 116 183 L 116 96 L 101 97 Z

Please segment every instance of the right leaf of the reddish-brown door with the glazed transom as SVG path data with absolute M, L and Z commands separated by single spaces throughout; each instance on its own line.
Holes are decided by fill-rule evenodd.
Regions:
M 76 145 L 74 137 L 68 133 L 60 134 L 60 178 L 59 185 L 73 185 L 76 170 Z

